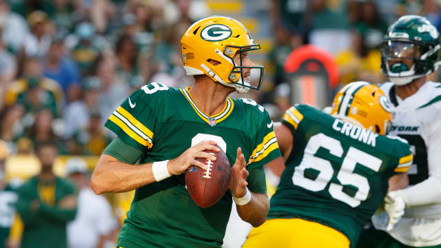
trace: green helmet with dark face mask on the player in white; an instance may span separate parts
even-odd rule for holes
[[[380,46],[381,71],[396,85],[405,85],[438,68],[440,48],[440,34],[425,17],[400,17]]]

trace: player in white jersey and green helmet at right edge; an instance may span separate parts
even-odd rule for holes
[[[398,19],[384,37],[381,68],[391,82],[381,88],[396,113],[390,134],[409,142],[414,160],[409,187],[387,195],[389,216],[372,218],[387,232],[371,227],[358,247],[441,247],[441,84],[427,81],[438,68],[440,46],[438,30],[415,15]],[[398,222],[392,229],[389,217]]]

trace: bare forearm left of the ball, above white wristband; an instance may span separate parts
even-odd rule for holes
[[[137,189],[155,180],[152,163],[130,165],[103,154],[96,164],[90,185],[95,194],[121,193]]]

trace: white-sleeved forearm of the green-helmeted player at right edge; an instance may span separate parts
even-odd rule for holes
[[[441,203],[441,175],[431,175],[426,180],[401,189],[403,200],[407,207],[433,205]]]

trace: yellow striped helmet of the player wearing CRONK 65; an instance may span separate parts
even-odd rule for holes
[[[367,82],[349,83],[336,94],[331,114],[378,134],[391,126],[391,104],[380,87]]]

